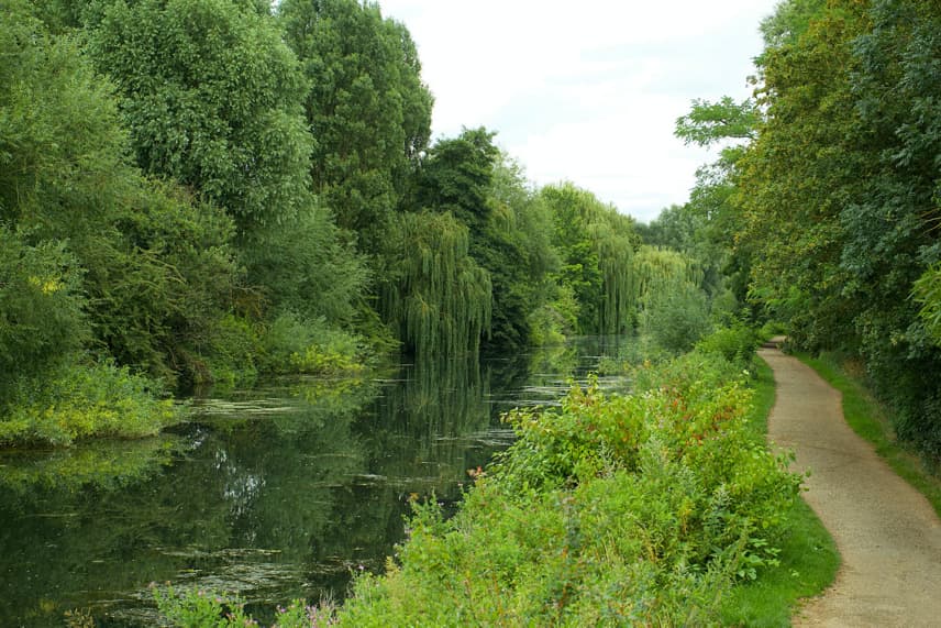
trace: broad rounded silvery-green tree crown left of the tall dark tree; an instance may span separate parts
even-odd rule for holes
[[[144,172],[195,188],[242,233],[297,216],[313,147],[308,85],[274,19],[233,0],[97,7],[89,53],[118,86]]]

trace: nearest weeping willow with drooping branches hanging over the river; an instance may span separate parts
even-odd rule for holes
[[[489,274],[469,256],[467,227],[450,212],[401,213],[389,233],[386,319],[421,359],[477,351],[490,327]]]

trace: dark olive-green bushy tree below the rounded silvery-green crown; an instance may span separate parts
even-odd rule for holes
[[[96,338],[122,364],[196,382],[241,278],[232,220],[173,184],[129,200],[114,240],[82,251]]]

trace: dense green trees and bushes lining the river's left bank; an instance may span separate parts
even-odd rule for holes
[[[0,49],[0,441],[152,433],[162,390],[653,329],[677,299],[682,349],[724,295],[589,191],[534,188],[492,131],[432,142],[376,4],[11,0]]]

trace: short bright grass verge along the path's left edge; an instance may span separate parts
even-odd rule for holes
[[[757,362],[756,372],[749,419],[755,434],[763,438],[775,386],[764,361]],[[802,499],[790,511],[789,527],[778,555],[781,564],[761,572],[756,581],[737,586],[723,602],[722,623],[727,626],[790,626],[800,598],[818,595],[833,582],[840,555],[830,533]]]

